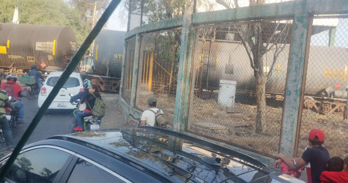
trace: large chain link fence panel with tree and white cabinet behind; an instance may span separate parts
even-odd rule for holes
[[[198,27],[187,130],[277,155],[292,21]]]

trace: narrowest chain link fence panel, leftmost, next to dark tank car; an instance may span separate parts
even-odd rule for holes
[[[133,76],[133,63],[134,63],[134,52],[135,52],[135,37],[126,40],[126,54],[125,54],[125,67],[123,73],[123,84],[122,84],[122,97],[127,102],[130,102],[130,94],[132,90],[132,76]]]

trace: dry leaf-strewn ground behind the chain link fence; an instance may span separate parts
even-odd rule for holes
[[[175,97],[157,96],[158,107],[164,111],[172,121],[174,118]],[[140,110],[147,109],[146,97],[141,97]],[[256,106],[235,103],[235,108],[220,107],[215,99],[193,99],[193,106],[189,112],[190,131],[208,137],[252,148],[262,153],[277,155],[280,137],[280,123],[283,108],[267,107],[267,124],[263,124],[263,133],[255,133]],[[229,113],[227,112],[229,111]],[[232,113],[231,113],[232,112]],[[206,129],[195,126],[195,123],[205,123],[207,128],[214,124],[222,125],[226,129]],[[343,121],[335,115],[320,115],[304,110],[302,115],[299,139],[299,156],[308,145],[308,133],[311,129],[322,129],[326,133],[324,146],[330,155],[346,157],[348,155],[348,121]]]

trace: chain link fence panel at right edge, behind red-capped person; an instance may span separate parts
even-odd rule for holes
[[[331,157],[348,155],[348,18],[315,18],[308,57],[298,156],[311,129],[325,132]]]

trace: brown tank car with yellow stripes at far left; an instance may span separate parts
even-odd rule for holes
[[[0,23],[0,67],[64,69],[77,51],[67,26]]]

